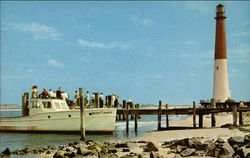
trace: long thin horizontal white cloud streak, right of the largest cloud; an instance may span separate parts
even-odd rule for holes
[[[110,44],[104,44],[102,42],[89,42],[83,39],[78,39],[78,44],[83,47],[94,47],[94,48],[121,48],[128,49],[131,47],[130,44],[121,43],[121,42],[113,42]]]

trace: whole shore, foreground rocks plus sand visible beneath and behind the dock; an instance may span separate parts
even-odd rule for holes
[[[245,118],[246,123],[250,124],[248,115]],[[170,127],[192,127],[192,116],[187,116],[184,119],[177,120],[175,122],[169,122]],[[79,156],[84,154],[89,154],[89,157],[98,157],[100,154],[103,154],[102,148],[105,148],[104,154],[107,154],[111,157],[181,157],[183,155],[182,152],[184,150],[192,151],[192,153],[187,157],[207,157],[206,153],[208,146],[215,146],[218,144],[218,140],[223,143],[221,145],[226,144],[229,139],[236,139],[240,137],[241,139],[249,138],[250,143],[250,132],[240,131],[241,127],[234,127],[233,129],[229,128],[221,128],[221,125],[232,123],[232,115],[229,113],[222,113],[216,115],[216,127],[211,128],[210,115],[204,116],[204,127],[206,128],[196,128],[196,129],[180,129],[180,130],[164,130],[164,131],[151,131],[145,132],[143,136],[127,139],[127,140],[110,140],[110,141],[91,141],[87,140],[84,142],[65,142],[64,144],[69,143],[68,145],[59,145],[58,147],[51,147],[51,145],[47,147],[33,147],[33,148],[24,148],[18,149],[15,151],[5,151],[0,153],[9,153],[12,155],[16,155],[17,157],[32,157],[34,155],[42,156],[42,157],[54,157],[55,155],[63,157],[62,155],[73,154],[71,156]],[[250,125],[246,126],[250,128]],[[140,130],[140,129],[139,129]],[[249,136],[248,136],[249,135]],[[176,146],[175,143],[183,142],[184,140],[188,141],[196,141],[203,144],[205,142],[210,142],[209,145],[205,143],[204,149],[202,151],[198,148],[194,149],[194,147],[188,146],[186,144],[181,146]],[[90,144],[88,142],[91,142]],[[174,142],[174,143],[173,143]],[[198,144],[199,144],[198,143]],[[165,145],[164,145],[165,144]],[[228,143],[227,143],[228,144]],[[81,149],[81,146],[84,149]],[[94,147],[93,147],[94,146]],[[99,147],[101,149],[99,149]],[[241,146],[240,146],[241,147]],[[79,151],[80,150],[80,151]],[[179,151],[180,150],[180,151]],[[220,148],[215,150],[221,150]],[[224,150],[224,149],[223,149]],[[230,154],[234,149],[230,147]],[[238,150],[238,149],[237,149]],[[185,151],[186,152],[186,151]],[[184,152],[184,153],[185,153]],[[199,155],[202,152],[201,155]],[[236,151],[235,151],[236,152]],[[78,155],[79,154],[79,155]],[[213,153],[215,154],[215,153]],[[217,155],[218,156],[218,155]],[[211,156],[210,157],[217,157]],[[55,156],[56,157],[56,156]]]

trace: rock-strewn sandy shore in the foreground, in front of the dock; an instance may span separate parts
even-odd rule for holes
[[[225,132],[227,131],[227,132]],[[182,132],[183,135],[178,135]],[[204,137],[204,134],[207,137]],[[122,158],[201,158],[250,156],[250,133],[238,129],[209,128],[178,131],[148,132],[143,137],[127,141],[75,141],[58,147],[24,148],[10,151],[8,148],[0,156],[14,157],[122,157]],[[239,153],[244,149],[244,152]],[[218,152],[217,152],[218,151]],[[237,155],[236,154],[236,155]]]

